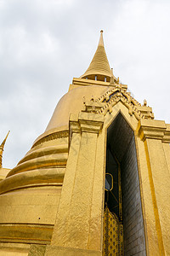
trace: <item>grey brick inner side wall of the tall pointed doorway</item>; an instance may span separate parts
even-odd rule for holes
[[[122,213],[125,255],[146,255],[134,137],[122,160]]]

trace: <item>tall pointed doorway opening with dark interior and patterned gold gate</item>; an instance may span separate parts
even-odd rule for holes
[[[134,132],[122,113],[107,131],[105,173],[103,255],[146,255]]]

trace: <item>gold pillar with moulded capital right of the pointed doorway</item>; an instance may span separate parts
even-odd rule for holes
[[[169,127],[164,121],[140,119],[138,130],[143,141],[138,141],[138,146],[147,252],[167,255],[170,252]]]

